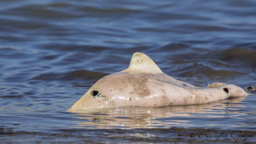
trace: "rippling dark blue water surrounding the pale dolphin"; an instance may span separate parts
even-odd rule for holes
[[[196,86],[255,86],[255,1],[0,5],[1,143],[216,143],[193,136],[213,130],[227,134],[219,143],[234,143],[233,131],[254,136],[237,143],[256,141],[255,93],[196,106],[66,111],[101,77],[127,68],[133,52]]]

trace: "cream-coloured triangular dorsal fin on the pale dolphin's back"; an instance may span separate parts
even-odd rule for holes
[[[163,73],[162,70],[146,54],[135,52],[132,55],[129,67],[126,70],[139,72]]]

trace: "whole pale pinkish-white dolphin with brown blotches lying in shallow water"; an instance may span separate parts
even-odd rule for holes
[[[102,77],[68,111],[204,104],[246,95],[242,88],[233,84],[213,83],[200,88],[179,81],[164,74],[147,55],[136,52],[127,69]]]

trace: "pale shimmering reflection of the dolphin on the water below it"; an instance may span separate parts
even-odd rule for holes
[[[244,97],[237,97],[209,104],[163,108],[124,107],[96,109],[72,113],[72,115],[82,119],[82,121],[77,122],[79,127],[89,127],[91,129],[170,128],[173,126],[214,127],[214,125],[218,128],[221,125],[225,125],[226,129],[228,127],[229,129],[234,129],[234,125],[228,124],[228,120],[230,120],[230,116],[239,118],[244,115],[244,113],[236,109],[244,108],[241,103],[243,99]],[[211,120],[215,123],[209,123]],[[205,124],[202,125],[203,123]]]

